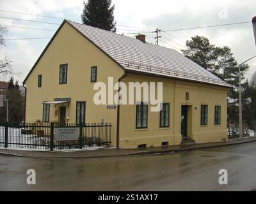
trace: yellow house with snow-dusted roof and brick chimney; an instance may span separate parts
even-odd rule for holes
[[[163,108],[151,112],[143,97],[134,105],[96,105],[93,86],[108,84],[109,77],[127,86],[162,82]],[[146,43],[143,35],[132,39],[64,20],[24,86],[26,122],[111,122],[113,147],[227,140],[229,86],[179,52]]]

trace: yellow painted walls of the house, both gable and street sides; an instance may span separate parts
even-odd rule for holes
[[[67,84],[59,84],[60,64],[68,64]],[[86,122],[111,122],[112,145],[116,146],[117,109],[107,109],[106,105],[93,103],[94,83],[90,82],[92,66],[97,66],[97,81],[107,84],[108,77],[114,83],[124,74],[124,70],[99,48],[69,24],[63,25],[56,38],[38,62],[26,81],[26,122],[42,120],[43,101],[54,98],[71,98],[67,107],[69,122],[76,122],[76,102],[86,101]],[[42,87],[37,87],[38,75],[42,75]],[[167,78],[147,77],[128,74],[122,82],[163,82],[164,103],[170,103],[170,128],[159,128],[159,113],[150,112],[148,106],[148,129],[135,129],[136,106],[120,106],[120,148],[136,148],[140,144],[148,147],[161,146],[162,142],[179,145],[181,142],[181,105],[190,105],[188,135],[197,143],[227,140],[227,89],[192,82],[180,82]],[[189,92],[189,101],[185,95]],[[200,105],[209,107],[208,126],[200,126]],[[214,126],[214,105],[221,105],[221,125]],[[195,110],[195,107],[198,109]],[[50,122],[58,122],[55,106],[50,108]]]

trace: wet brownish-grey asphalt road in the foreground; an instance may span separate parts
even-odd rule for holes
[[[36,185],[26,171],[36,171]],[[220,186],[218,171],[228,171]],[[256,143],[174,154],[95,159],[0,156],[1,191],[252,191]]]

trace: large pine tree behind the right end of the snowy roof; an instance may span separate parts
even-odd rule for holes
[[[238,103],[239,65],[230,48],[211,45],[209,40],[202,36],[195,36],[187,41],[186,47],[186,50],[182,50],[186,57],[232,85],[233,89],[228,93],[231,99],[229,102]],[[242,80],[244,80],[244,74],[249,66],[243,64],[240,68]]]

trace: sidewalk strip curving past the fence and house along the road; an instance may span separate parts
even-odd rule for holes
[[[241,143],[256,142],[256,137],[238,138],[228,140],[228,142],[203,143],[203,144],[184,144],[172,147],[150,147],[147,149],[99,149],[99,150],[77,150],[73,152],[39,152],[26,150],[0,149],[0,155],[19,156],[31,158],[93,158],[93,157],[117,157],[135,156],[143,154],[162,154],[167,152],[180,152],[185,150],[204,149],[209,147],[222,147]]]

